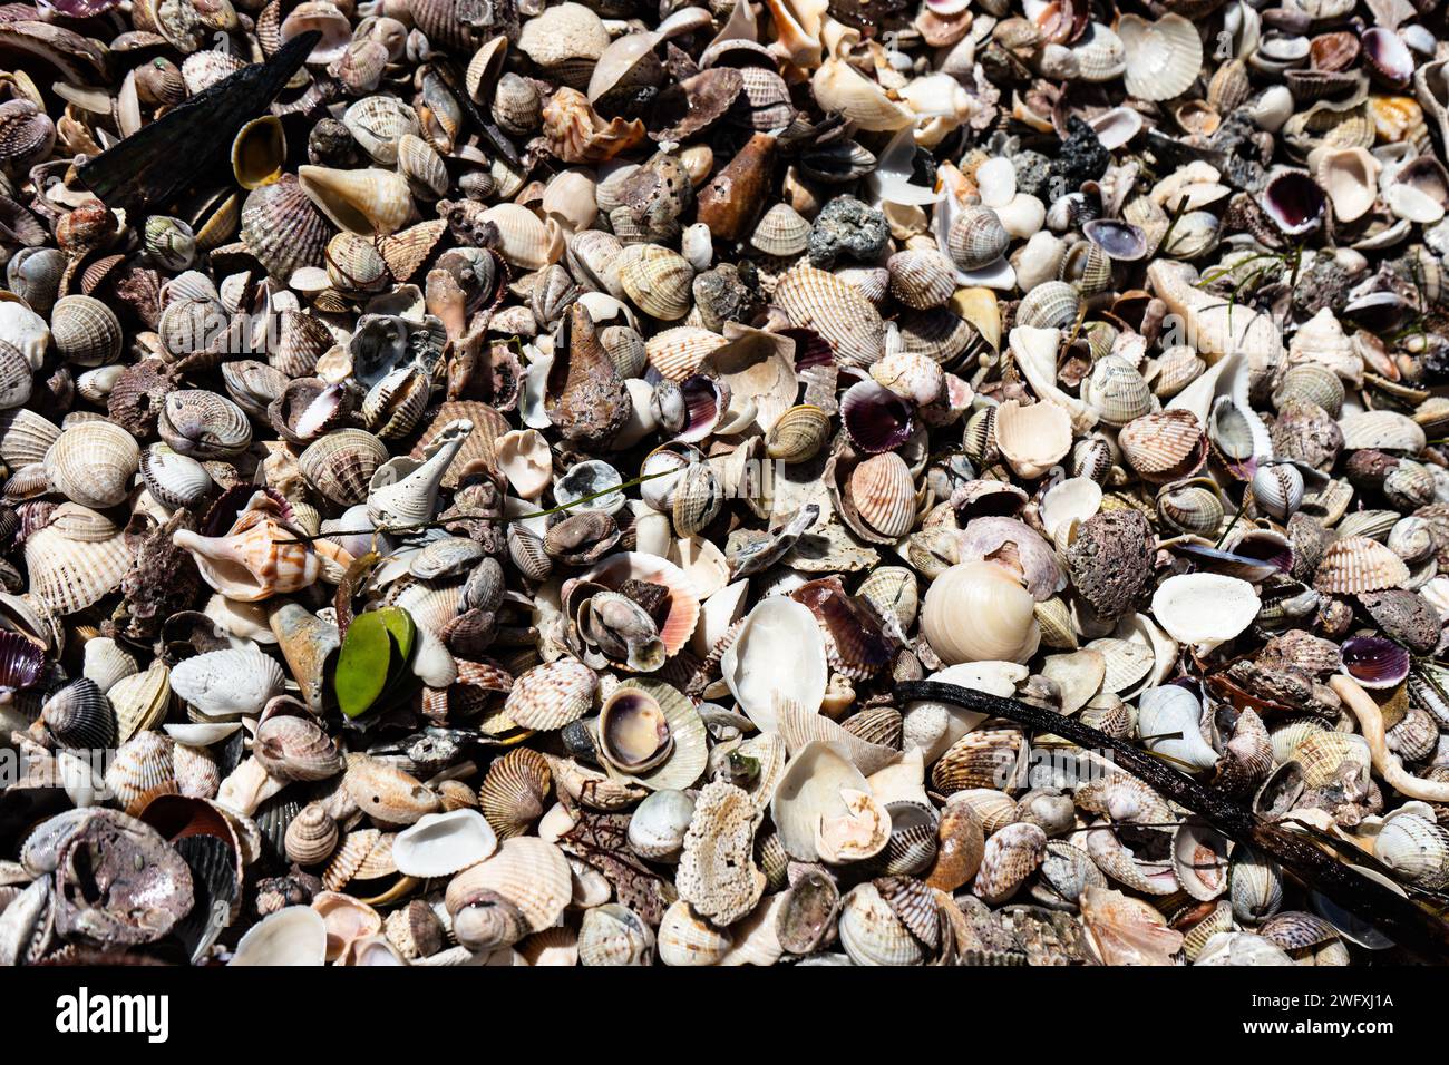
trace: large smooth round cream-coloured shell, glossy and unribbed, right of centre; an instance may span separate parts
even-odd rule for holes
[[[990,562],[948,568],[926,591],[922,635],[943,662],[1024,662],[1040,629],[1032,594]]]

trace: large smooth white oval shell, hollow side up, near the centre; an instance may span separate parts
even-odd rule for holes
[[[814,713],[824,701],[824,635],[810,609],[771,596],[749,611],[735,642],[720,658],[730,694],[761,732],[774,732],[780,698]]]

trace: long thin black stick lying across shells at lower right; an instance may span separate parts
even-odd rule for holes
[[[1314,838],[1271,824],[1240,803],[1198,784],[1130,743],[1113,739],[1074,717],[1064,717],[1020,700],[962,688],[958,684],[933,681],[898,684],[895,697],[901,706],[911,700],[955,703],[966,710],[1051,732],[1081,748],[1111,751],[1116,765],[1178,806],[1191,810],[1235,843],[1268,855],[1284,871],[1355,917],[1369,922],[1398,946],[1436,962],[1449,959],[1449,923],[1382,884],[1358,875],[1320,849]]]

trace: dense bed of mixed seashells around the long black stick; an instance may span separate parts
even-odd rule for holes
[[[0,17],[0,959],[1321,964],[1442,911],[1439,0]]]

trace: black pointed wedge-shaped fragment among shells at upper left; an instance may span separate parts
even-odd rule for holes
[[[236,133],[271,106],[322,38],[307,30],[267,62],[254,62],[197,93],[80,168],[112,210],[155,213],[229,167]]]

